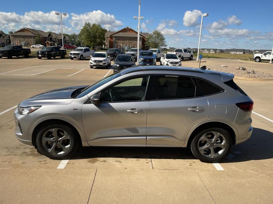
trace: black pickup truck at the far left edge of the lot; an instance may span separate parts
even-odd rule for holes
[[[29,48],[22,48],[20,45],[6,45],[4,48],[0,49],[0,58],[7,57],[8,59],[11,59],[13,56],[28,57],[30,53],[31,51]]]

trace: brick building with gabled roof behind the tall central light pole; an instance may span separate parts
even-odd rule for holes
[[[146,50],[146,39],[149,33],[140,33],[139,44],[140,48]],[[119,48],[128,50],[138,47],[138,32],[130,27],[125,27],[119,31],[107,31],[105,33],[106,48]]]

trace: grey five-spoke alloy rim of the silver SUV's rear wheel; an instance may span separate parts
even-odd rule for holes
[[[216,131],[203,134],[198,141],[199,152],[208,158],[220,156],[225,151],[226,146],[226,138]]]

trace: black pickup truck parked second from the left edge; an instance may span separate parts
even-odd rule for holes
[[[59,47],[44,47],[41,50],[38,50],[36,52],[36,56],[38,59],[41,59],[42,57],[51,59],[52,57],[61,57],[64,58],[66,56],[66,50],[60,50]]]

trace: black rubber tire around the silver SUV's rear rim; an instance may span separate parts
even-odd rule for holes
[[[218,133],[222,134],[222,136],[225,137],[225,140],[226,140],[225,150],[222,153],[220,153],[219,156],[216,156],[214,158],[209,158],[209,157],[206,157],[206,156],[202,155],[200,153],[199,149],[198,149],[199,139],[203,136],[203,134],[211,132],[211,131],[215,131],[215,132],[218,132]],[[232,144],[232,140],[231,140],[231,136],[230,136],[228,131],[226,131],[225,129],[222,129],[222,128],[208,128],[208,129],[202,130],[200,133],[198,133],[193,138],[193,140],[191,141],[191,144],[190,144],[190,148],[191,148],[191,151],[192,151],[193,155],[197,159],[199,159],[200,161],[206,162],[206,163],[214,163],[214,162],[220,161],[221,159],[223,159],[228,154],[228,152],[229,152],[229,150],[231,148],[231,144]]]

